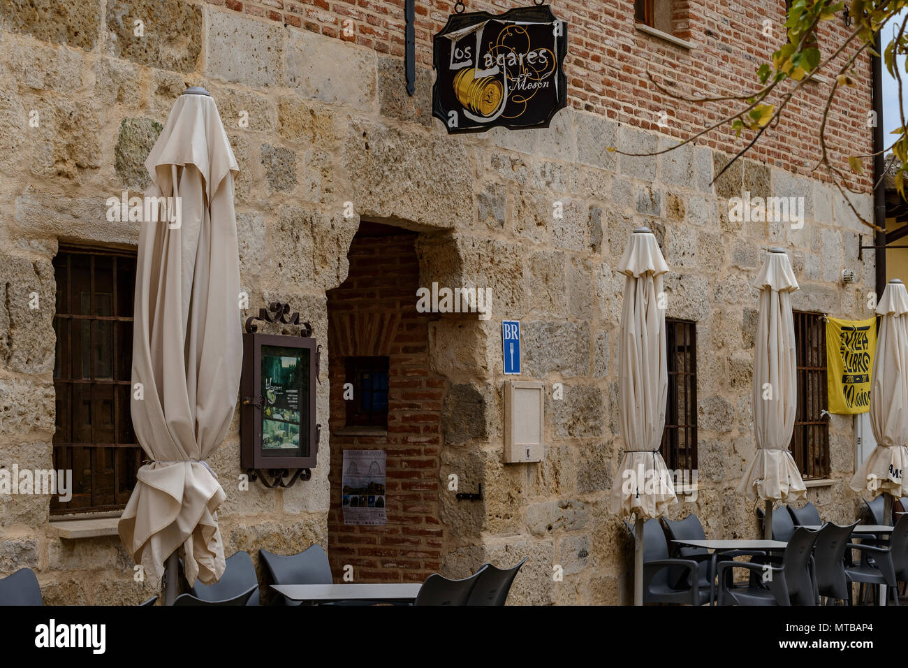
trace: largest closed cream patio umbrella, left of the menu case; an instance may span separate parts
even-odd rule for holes
[[[146,197],[135,280],[133,428],[150,462],[119,523],[146,575],[176,597],[177,552],[190,584],[224,571],[217,509],[226,498],[205,462],[230,427],[242,368],[240,265],[233,184],[238,172],[211,95],[190,88],[173,105],[145,161]]]

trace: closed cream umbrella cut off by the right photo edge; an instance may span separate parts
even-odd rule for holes
[[[870,389],[870,426],[876,438],[873,453],[851,481],[855,492],[886,494],[885,522],[892,521],[893,497],[908,495],[908,291],[897,278],[883,290],[876,305],[880,315]]]

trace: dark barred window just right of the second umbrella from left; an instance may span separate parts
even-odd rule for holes
[[[679,340],[680,338],[680,340]],[[679,354],[687,352],[688,354]],[[683,360],[683,362],[681,362]],[[668,393],[666,428],[660,450],[669,469],[696,469],[696,323],[691,320],[666,318],[666,366]],[[680,368],[679,368],[680,366]],[[678,400],[683,399],[682,411]],[[684,434],[684,446],[681,434]]]

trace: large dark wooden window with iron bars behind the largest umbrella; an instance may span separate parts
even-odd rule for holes
[[[135,254],[61,246],[54,257],[54,468],[73,498],[51,513],[120,510],[142,463],[130,414]]]

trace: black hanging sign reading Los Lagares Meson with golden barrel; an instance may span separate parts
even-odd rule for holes
[[[548,5],[451,15],[434,51],[432,115],[449,133],[548,127],[568,104],[567,24]]]

